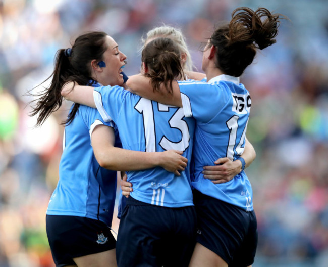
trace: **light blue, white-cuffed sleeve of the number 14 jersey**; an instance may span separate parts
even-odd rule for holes
[[[178,84],[185,116],[199,122],[209,122],[227,101],[218,84],[194,80],[178,81]]]

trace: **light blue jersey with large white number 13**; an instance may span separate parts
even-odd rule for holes
[[[119,86],[95,88],[94,100],[104,121],[116,123],[123,148],[146,152],[181,150],[190,162],[195,122],[184,117],[182,108],[141,98]],[[127,180],[133,184],[131,196],[158,206],[192,206],[189,162],[181,176],[160,167],[128,171]]]

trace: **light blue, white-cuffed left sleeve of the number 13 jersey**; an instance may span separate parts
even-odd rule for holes
[[[117,121],[121,104],[127,93],[120,86],[100,86],[94,88],[94,102],[105,122]]]

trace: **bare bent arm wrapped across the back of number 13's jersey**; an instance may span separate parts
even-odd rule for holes
[[[114,147],[115,135],[112,127],[98,125],[91,135],[91,144],[99,165],[106,169],[129,171],[160,166],[180,176],[188,160],[182,152],[141,152]]]

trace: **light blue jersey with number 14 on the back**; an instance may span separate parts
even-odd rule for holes
[[[244,151],[251,99],[239,78],[220,75],[208,83],[179,81],[186,117],[196,119],[192,186],[205,195],[253,210],[252,188],[244,171],[231,181],[213,184],[204,179],[203,166],[218,158],[237,159]]]

